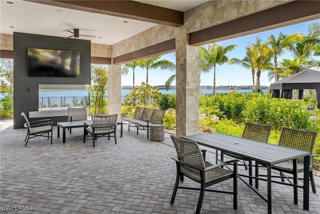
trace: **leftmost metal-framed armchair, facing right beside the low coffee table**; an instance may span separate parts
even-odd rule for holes
[[[53,122],[49,122],[50,119],[40,119],[40,120],[34,120],[29,121],[26,117],[25,113],[22,112],[21,116],[25,119],[24,127],[27,128],[27,133],[24,138],[25,145],[28,143],[28,140],[30,138],[36,137],[36,136],[44,136],[44,134],[47,134],[47,138],[51,137],[51,144],[52,144],[52,124]],[[51,132],[51,135],[49,133]]]

